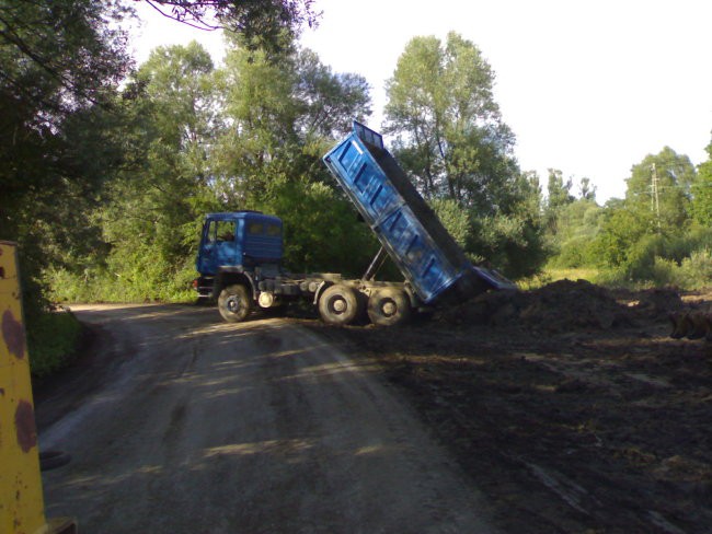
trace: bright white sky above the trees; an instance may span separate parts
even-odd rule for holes
[[[139,5],[136,59],[154,46],[203,43],[216,61],[219,33],[194,31]],[[315,0],[319,26],[303,46],[335,72],[364,76],[379,130],[406,43],[455,31],[495,72],[494,97],[517,138],[522,171],[548,169],[574,184],[588,177],[597,199],[623,197],[631,167],[670,147],[693,164],[712,141],[710,0]],[[386,139],[388,142],[388,139]],[[577,193],[574,187],[573,193]]]

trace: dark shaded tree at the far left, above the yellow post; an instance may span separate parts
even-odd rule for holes
[[[85,243],[82,208],[117,159],[106,127],[130,66],[126,14],[114,0],[0,0],[0,239],[20,243],[31,312],[41,266]]]

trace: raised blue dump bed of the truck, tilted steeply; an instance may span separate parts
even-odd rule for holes
[[[376,131],[355,121],[324,163],[425,304],[515,287],[472,265]]]

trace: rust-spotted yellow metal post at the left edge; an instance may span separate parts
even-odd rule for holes
[[[15,245],[0,241],[0,532],[46,534],[73,523],[45,520],[20,294]]]

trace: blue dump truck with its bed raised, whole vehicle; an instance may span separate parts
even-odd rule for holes
[[[323,321],[345,325],[366,315],[395,325],[413,311],[462,302],[489,289],[514,289],[496,271],[467,258],[423,197],[383,147],[382,137],[354,123],[354,131],[329,151],[324,163],[378,237],[381,249],[365,275],[296,275],[282,268],[282,220],[256,211],[206,217],[193,285],[217,298],[228,322],[253,310],[279,307],[296,299],[318,306]],[[388,254],[404,281],[378,281]]]

